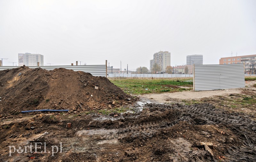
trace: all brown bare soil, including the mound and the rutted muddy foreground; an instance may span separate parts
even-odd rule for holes
[[[251,111],[231,111],[223,106],[228,104],[220,105],[220,95],[197,99],[169,97],[163,104],[152,96],[141,96],[136,101],[108,79],[83,72],[21,67],[0,73],[0,161],[256,160],[256,123]],[[221,96],[228,100],[236,95],[256,97],[255,89],[246,88],[239,94]],[[33,103],[35,98],[37,105]],[[113,105],[113,101],[118,105]],[[115,106],[125,112],[114,112]],[[249,106],[255,111],[255,105],[242,106],[239,109]],[[74,109],[77,113],[19,113],[46,108]],[[98,110],[113,112],[102,114]],[[66,128],[67,123],[71,123],[71,128]],[[42,143],[37,148],[42,153],[35,153],[35,143]],[[52,146],[60,148],[60,143],[62,152],[52,156]],[[9,146],[29,145],[34,152],[16,151],[9,156]]]

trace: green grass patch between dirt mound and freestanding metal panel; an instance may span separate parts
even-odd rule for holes
[[[188,79],[111,79],[117,87],[121,88],[126,93],[131,94],[149,94],[162,92],[179,92],[191,90],[193,82],[188,82]]]

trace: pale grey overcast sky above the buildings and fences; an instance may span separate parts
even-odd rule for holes
[[[231,51],[256,54],[256,1],[0,0],[4,66],[18,62],[18,53],[38,53],[44,64],[108,60],[114,68],[122,61],[122,69],[149,69],[160,50],[171,53],[171,66],[192,54],[204,64],[219,64]]]

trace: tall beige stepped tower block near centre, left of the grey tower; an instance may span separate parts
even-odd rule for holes
[[[153,59],[150,60],[150,71],[152,72],[154,64],[157,64],[161,72],[165,72],[167,66],[171,66],[171,53],[160,51],[154,53]]]

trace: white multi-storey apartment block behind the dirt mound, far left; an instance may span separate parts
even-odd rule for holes
[[[37,62],[39,62],[39,66],[44,66],[44,55],[41,54],[31,54],[31,53],[19,53],[19,66],[37,66]]]

